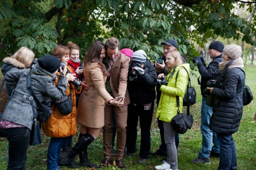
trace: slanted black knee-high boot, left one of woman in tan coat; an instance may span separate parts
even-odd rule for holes
[[[86,134],[85,136],[83,136],[80,140],[78,140],[78,142],[71,149],[71,151],[68,153],[68,155],[66,157],[64,157],[63,161],[68,163],[69,166],[71,166],[71,168],[79,168],[80,165],[78,165],[75,162],[75,156],[77,156],[77,154],[80,153],[80,151],[83,149],[83,147],[91,144],[92,139],[94,140],[94,138],[89,134]]]

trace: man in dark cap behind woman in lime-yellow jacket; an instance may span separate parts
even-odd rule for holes
[[[157,74],[164,73],[165,76],[166,76],[169,72],[168,69],[165,67],[166,55],[170,50],[177,49],[178,48],[178,43],[177,43],[177,41],[169,38],[165,42],[162,42],[161,45],[163,45],[163,47],[164,47],[164,49],[163,49],[164,55],[162,55],[161,57],[156,59],[154,65],[155,65],[155,70],[156,70]],[[182,61],[186,62],[184,56],[181,55],[181,57],[182,57]],[[162,81],[162,80],[158,79],[158,81]],[[160,87],[161,87],[161,85],[156,86],[156,104],[157,105],[158,105],[160,97],[161,97],[161,91],[159,90]],[[159,119],[158,119],[158,127],[159,127],[159,130],[160,130],[161,145],[155,153],[150,153],[150,154],[160,155],[160,156],[167,156],[167,148],[166,148],[166,144],[165,144],[165,141],[164,141],[164,126],[163,126],[163,122]],[[176,145],[176,148],[178,149],[178,145],[179,145],[179,134],[178,133],[175,133],[175,145]],[[163,159],[163,160],[165,160],[165,159]]]

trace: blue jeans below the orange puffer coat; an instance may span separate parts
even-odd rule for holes
[[[65,138],[51,138],[47,152],[47,170],[58,169],[63,139]]]

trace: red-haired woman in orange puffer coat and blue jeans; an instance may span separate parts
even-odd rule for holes
[[[68,136],[73,136],[77,133],[77,108],[76,108],[76,95],[82,91],[82,87],[77,89],[73,85],[73,81],[76,79],[75,74],[72,73],[72,69],[67,66],[69,61],[70,50],[65,46],[57,46],[51,53],[51,55],[60,58],[60,62],[65,63],[68,88],[65,94],[71,95],[73,109],[71,114],[63,115],[58,106],[54,103],[51,107],[51,117],[46,123],[42,124],[43,133],[46,136],[51,137],[50,144],[48,146],[47,153],[47,170],[59,169],[59,166],[65,166],[66,163],[62,162],[60,158],[62,142]],[[59,72],[57,74],[60,74]],[[57,83],[57,79],[55,81]]]

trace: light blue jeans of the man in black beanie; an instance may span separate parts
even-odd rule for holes
[[[206,97],[203,97],[200,126],[200,131],[202,133],[202,150],[199,151],[199,157],[209,157],[211,150],[214,153],[220,153],[220,146],[217,135],[209,128],[211,115],[213,115],[213,109],[206,105]]]

